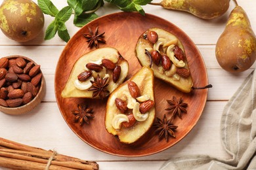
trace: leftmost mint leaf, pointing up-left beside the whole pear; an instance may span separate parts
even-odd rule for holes
[[[56,16],[56,14],[58,13],[58,9],[53,5],[50,0],[38,0],[37,3],[40,9],[45,14]]]

